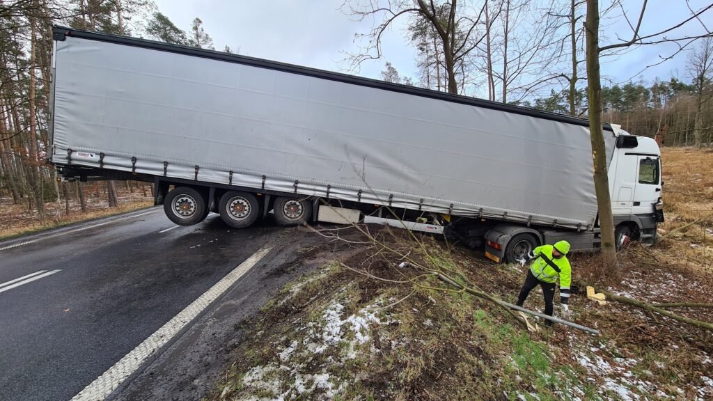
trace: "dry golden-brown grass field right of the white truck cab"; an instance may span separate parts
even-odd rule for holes
[[[713,270],[713,151],[663,148],[660,262]]]

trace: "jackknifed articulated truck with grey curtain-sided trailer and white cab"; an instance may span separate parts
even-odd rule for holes
[[[588,121],[342,73],[53,29],[48,158],[154,183],[178,225],[381,223],[496,262],[600,247]],[[617,238],[655,240],[660,149],[605,124]]]

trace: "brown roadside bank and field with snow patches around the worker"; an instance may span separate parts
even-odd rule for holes
[[[712,155],[665,149],[660,242],[623,250],[620,282],[600,277],[597,255],[573,255],[575,284],[650,303],[711,303]],[[513,302],[524,268],[429,236],[362,229],[318,228],[314,235],[324,241],[299,253],[304,263],[328,261],[242,323],[245,340],[230,352],[208,400],[713,397],[711,330],[577,293],[571,320],[600,335],[563,325],[530,333],[503,308],[427,273]],[[402,261],[410,264],[399,267]],[[525,306],[543,310],[541,292]],[[712,308],[669,310],[713,322]]]

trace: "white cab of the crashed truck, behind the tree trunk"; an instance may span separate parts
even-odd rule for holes
[[[617,141],[608,175],[617,241],[627,235],[652,243],[663,221],[660,148],[652,138],[612,127]]]

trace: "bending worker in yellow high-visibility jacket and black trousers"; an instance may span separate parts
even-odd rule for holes
[[[555,298],[555,283],[560,280],[560,302],[563,314],[569,315],[570,283],[572,282],[572,267],[567,260],[570,243],[565,240],[558,241],[555,245],[542,245],[533,249],[518,260],[520,265],[525,265],[529,260],[534,260],[528,270],[523,289],[518,296],[518,306],[522,306],[528,298],[530,291],[539,284],[545,295],[545,315],[553,315],[553,300]],[[551,326],[551,320],[545,320],[545,325]]]

